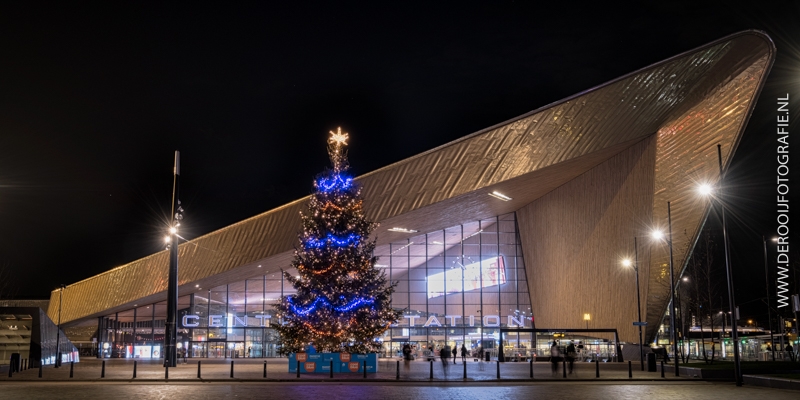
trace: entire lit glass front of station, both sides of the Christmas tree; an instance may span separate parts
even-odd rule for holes
[[[434,352],[448,343],[496,356],[500,328],[531,328],[531,305],[514,214],[467,222],[376,247],[376,268],[397,284],[403,318],[386,331],[382,356],[404,343]],[[292,272],[291,270],[289,271]],[[278,357],[272,304],[294,292],[280,272],[198,288],[178,301],[179,355]],[[103,357],[161,357],[166,302],[99,318]],[[505,334],[504,353],[530,354],[531,334]],[[535,346],[534,346],[535,347]]]

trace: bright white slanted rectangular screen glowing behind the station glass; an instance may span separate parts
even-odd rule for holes
[[[506,283],[503,257],[492,257],[428,276],[428,298],[460,293],[462,290],[468,292],[503,283]]]

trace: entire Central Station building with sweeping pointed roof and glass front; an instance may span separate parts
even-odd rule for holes
[[[638,343],[621,265],[634,254],[645,341],[663,338],[669,253],[647,237],[670,202],[677,279],[712,204],[694,189],[720,182],[717,146],[727,167],[774,58],[765,34],[737,33],[358,177],[380,222],[376,268],[404,310],[384,355],[445,341],[491,353],[501,335],[507,356],[530,355],[580,328]],[[272,304],[293,292],[281,270],[306,201],[179,246],[181,352],[280,355]],[[100,356],[161,357],[168,264],[162,251],[56,290],[48,315],[91,332]],[[565,338],[614,351],[607,333]]]

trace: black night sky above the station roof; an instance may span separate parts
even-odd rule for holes
[[[162,250],[175,150],[191,239],[309,194],[338,126],[360,175],[746,29],[778,49],[727,182],[737,300],[764,296],[800,3],[76,3],[0,5],[0,296]]]

